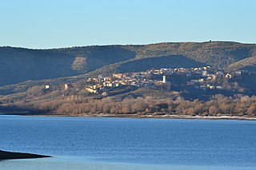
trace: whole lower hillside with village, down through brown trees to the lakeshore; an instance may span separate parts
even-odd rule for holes
[[[0,108],[74,116],[254,117],[255,75],[211,66],[114,73],[34,86],[26,96],[3,97]]]

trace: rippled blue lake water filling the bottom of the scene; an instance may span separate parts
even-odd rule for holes
[[[0,169],[256,169],[256,121],[0,116]]]

